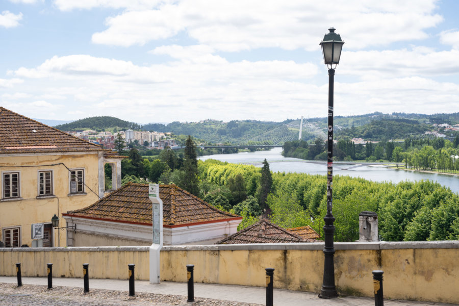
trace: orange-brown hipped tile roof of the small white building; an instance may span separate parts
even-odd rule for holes
[[[160,185],[160,198],[163,200],[164,226],[240,218],[216,209],[175,185]],[[64,215],[151,224],[148,184],[127,183],[93,205]]]

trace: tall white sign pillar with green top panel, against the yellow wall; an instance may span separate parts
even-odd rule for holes
[[[163,246],[163,201],[159,184],[148,185],[148,198],[152,204],[153,244],[150,246],[150,284],[160,282],[160,251]]]

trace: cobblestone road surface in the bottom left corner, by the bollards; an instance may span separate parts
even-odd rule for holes
[[[232,301],[222,301],[209,298],[195,298],[194,302],[187,302],[182,295],[154,294],[138,292],[130,297],[128,291],[91,289],[82,293],[82,288],[40,285],[22,285],[0,283],[0,305],[2,306],[134,306],[134,305],[209,305],[209,306],[260,306]]]

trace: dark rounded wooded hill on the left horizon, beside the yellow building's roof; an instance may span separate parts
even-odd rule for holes
[[[98,116],[84,118],[77,121],[73,121],[66,124],[60,124],[55,126],[56,129],[61,131],[77,131],[77,130],[106,130],[113,127],[117,127],[119,130],[138,130],[140,124],[135,122],[124,121],[116,117],[110,116]]]

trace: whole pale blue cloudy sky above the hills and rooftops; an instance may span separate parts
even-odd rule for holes
[[[459,1],[0,0],[0,106],[137,123],[459,111]]]

